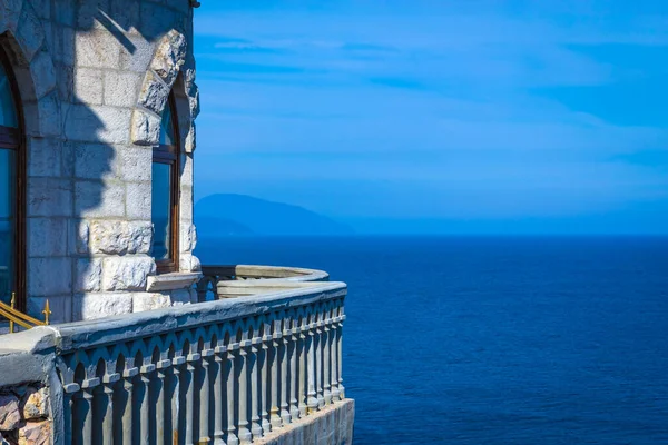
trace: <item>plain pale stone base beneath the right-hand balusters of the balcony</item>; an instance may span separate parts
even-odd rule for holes
[[[346,398],[324,407],[292,424],[275,428],[258,441],[258,445],[351,445],[355,400]]]

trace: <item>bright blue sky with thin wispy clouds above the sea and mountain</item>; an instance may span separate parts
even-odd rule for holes
[[[668,233],[668,2],[202,3],[199,198],[362,231]]]

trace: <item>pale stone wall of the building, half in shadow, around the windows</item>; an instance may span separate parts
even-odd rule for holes
[[[41,318],[46,299],[52,323],[189,303],[199,270],[190,1],[0,0],[0,44],[24,120],[29,314]],[[183,147],[183,279],[149,290],[151,147],[171,90]]]

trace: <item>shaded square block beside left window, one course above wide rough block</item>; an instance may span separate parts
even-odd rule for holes
[[[67,220],[65,218],[28,218],[28,256],[57,257],[67,255]]]

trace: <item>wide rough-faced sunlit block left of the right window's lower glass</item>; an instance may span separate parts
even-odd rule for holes
[[[148,254],[151,237],[149,221],[95,221],[90,226],[90,251],[106,255]]]

